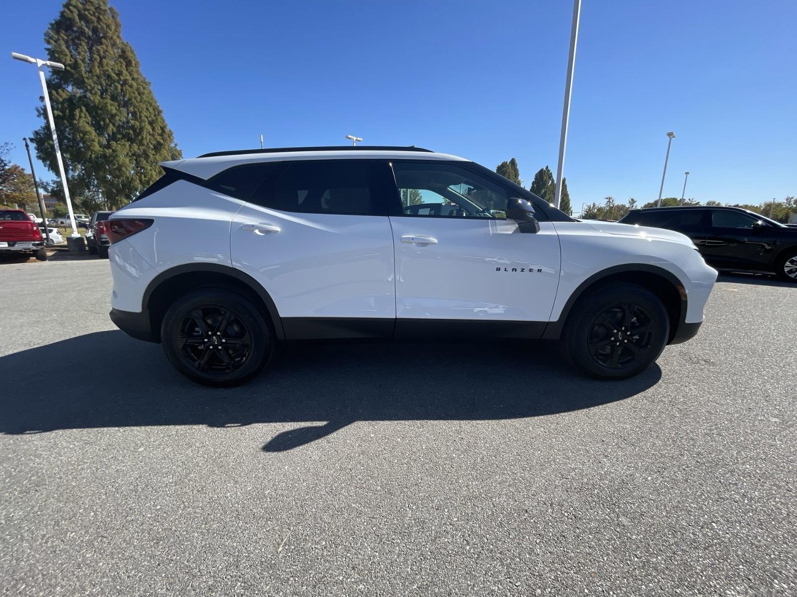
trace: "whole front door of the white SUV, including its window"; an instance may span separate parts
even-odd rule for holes
[[[507,188],[465,165],[392,166],[401,201],[401,213],[391,215],[397,334],[447,322],[443,333],[539,337],[559,281],[551,222],[540,221],[536,234],[520,232],[505,217]]]

